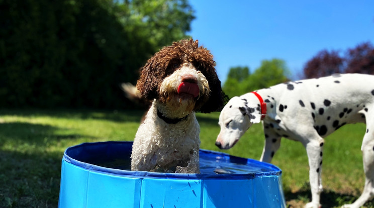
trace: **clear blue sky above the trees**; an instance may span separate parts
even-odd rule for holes
[[[190,0],[196,19],[188,35],[208,48],[226,80],[230,67],[253,72],[264,59],[286,61],[291,79],[319,51],[374,44],[374,1]]]

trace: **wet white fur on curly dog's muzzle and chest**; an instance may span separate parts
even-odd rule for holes
[[[205,76],[191,64],[184,64],[160,86],[160,96],[167,96],[166,103],[153,100],[144,122],[136,133],[131,155],[131,169],[141,171],[168,171],[178,166],[180,161],[188,161],[188,166],[176,167],[177,172],[199,173],[200,126],[193,112],[195,99],[183,99],[177,94],[177,87],[185,76],[198,80],[199,96],[209,93]],[[168,118],[186,120],[177,124],[167,124],[157,116],[157,109]]]

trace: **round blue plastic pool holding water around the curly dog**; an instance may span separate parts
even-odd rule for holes
[[[58,206],[286,207],[274,165],[200,150],[201,174],[130,170],[132,142],[83,143],[62,159]]]

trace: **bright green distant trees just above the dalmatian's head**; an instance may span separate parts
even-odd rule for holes
[[[252,74],[248,67],[230,68],[223,90],[231,98],[247,92],[286,82],[290,72],[281,59],[263,60]]]

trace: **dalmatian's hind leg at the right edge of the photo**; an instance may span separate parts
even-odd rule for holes
[[[374,109],[368,108],[364,114],[366,118],[366,133],[363,137],[361,151],[363,170],[365,171],[365,185],[361,196],[356,201],[352,204],[345,204],[342,207],[360,207],[374,196]]]

